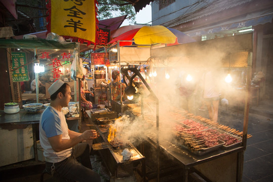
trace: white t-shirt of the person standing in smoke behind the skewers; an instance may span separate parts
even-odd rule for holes
[[[219,88],[215,76],[216,75],[213,75],[211,71],[208,71],[203,75],[204,98],[219,97]]]

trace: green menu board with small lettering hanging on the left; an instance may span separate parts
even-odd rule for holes
[[[28,77],[26,53],[12,52],[11,54],[12,54],[12,70],[20,67],[12,72],[13,82],[28,81],[29,77]],[[22,66],[22,65],[25,65],[25,66]]]

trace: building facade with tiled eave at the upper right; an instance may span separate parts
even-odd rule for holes
[[[152,25],[180,30],[197,41],[253,33],[252,74],[265,75],[264,97],[273,99],[273,1],[158,0],[152,3]]]

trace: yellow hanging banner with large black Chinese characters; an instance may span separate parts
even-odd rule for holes
[[[49,1],[48,31],[95,44],[98,23],[96,3],[97,0]]]

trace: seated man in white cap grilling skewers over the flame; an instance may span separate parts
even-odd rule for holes
[[[61,111],[71,99],[69,84],[58,79],[48,89],[51,103],[39,122],[39,139],[45,158],[45,169],[52,175],[75,181],[101,181],[92,170],[89,145],[81,143],[98,138],[96,130],[78,133],[68,129]],[[79,159],[80,162],[77,161]]]

